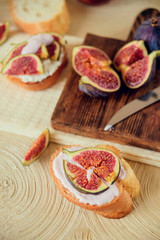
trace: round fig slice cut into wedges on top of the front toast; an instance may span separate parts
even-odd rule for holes
[[[99,194],[113,184],[120,172],[120,159],[111,150],[93,147],[71,152],[63,149],[67,159],[63,168],[69,182],[80,192]]]

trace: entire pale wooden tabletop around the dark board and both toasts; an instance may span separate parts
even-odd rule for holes
[[[71,25],[67,52],[83,41],[87,32],[125,40],[137,14],[146,8],[160,9],[159,0],[112,0],[89,6],[67,0]],[[28,38],[10,17],[6,0],[0,2],[0,21],[11,21],[8,42]],[[118,147],[141,182],[141,196],[133,212],[120,220],[109,220],[80,209],[64,199],[49,172],[52,152],[60,144],[95,145],[101,141],[55,132],[50,117],[71,70],[71,63],[52,88],[32,93],[19,89],[0,76],[0,239],[160,239],[160,171],[143,163],[159,164],[159,154],[129,146]],[[42,157],[29,167],[21,160],[33,140],[48,127],[51,143]],[[137,161],[139,163],[135,163]]]

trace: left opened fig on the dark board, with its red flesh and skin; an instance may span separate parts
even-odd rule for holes
[[[106,97],[120,88],[118,74],[110,67],[107,54],[91,46],[79,46],[73,49],[72,65],[82,76],[79,81],[80,91],[94,97]]]

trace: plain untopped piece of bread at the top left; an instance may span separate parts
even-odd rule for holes
[[[65,0],[10,0],[10,12],[15,23],[29,34],[65,34],[69,29],[70,16]]]

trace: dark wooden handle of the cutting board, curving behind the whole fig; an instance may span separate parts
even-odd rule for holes
[[[134,34],[136,29],[141,25],[144,21],[152,17],[160,16],[160,11],[155,8],[148,8],[142,11],[140,14],[137,15],[136,20],[131,28],[131,32],[127,38],[127,41],[130,42],[134,39]]]

